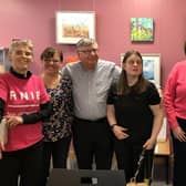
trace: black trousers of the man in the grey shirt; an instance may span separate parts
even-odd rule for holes
[[[72,127],[74,151],[80,169],[110,169],[113,155],[113,134],[107,120],[75,118]]]

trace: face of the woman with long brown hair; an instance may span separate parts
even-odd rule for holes
[[[123,63],[123,69],[127,76],[140,76],[143,71],[142,60],[138,55],[132,54],[127,58],[126,62]]]

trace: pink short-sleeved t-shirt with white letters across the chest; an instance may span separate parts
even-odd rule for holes
[[[39,76],[19,79],[11,73],[0,75],[0,97],[6,102],[4,115],[22,115],[40,111],[40,104],[46,103],[50,97]],[[10,128],[6,151],[17,151],[29,147],[41,141],[41,122],[21,124]]]

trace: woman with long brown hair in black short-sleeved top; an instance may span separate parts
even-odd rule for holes
[[[143,76],[143,60],[137,51],[127,51],[120,80],[111,86],[107,99],[107,120],[115,135],[114,149],[118,169],[126,180],[134,176],[143,148],[152,164],[153,148],[162,126],[161,97],[153,83]],[[137,176],[143,182],[142,169]]]

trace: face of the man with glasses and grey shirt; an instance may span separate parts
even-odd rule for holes
[[[78,50],[78,55],[86,70],[93,70],[99,60],[99,46],[96,43],[87,46],[81,46]]]

